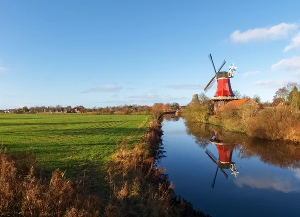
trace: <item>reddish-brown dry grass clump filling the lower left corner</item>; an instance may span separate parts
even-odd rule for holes
[[[58,169],[44,180],[33,161],[30,154],[20,158],[0,149],[0,216],[99,215],[100,200],[83,192],[83,182],[73,183]]]

